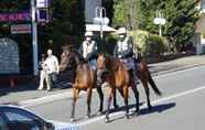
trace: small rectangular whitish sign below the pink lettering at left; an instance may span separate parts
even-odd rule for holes
[[[31,33],[31,24],[14,24],[11,25],[11,34]]]

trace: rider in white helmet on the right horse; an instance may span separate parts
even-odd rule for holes
[[[119,40],[117,41],[117,44],[114,50],[114,56],[119,57],[122,59],[122,62],[126,63],[128,69],[131,72],[134,84],[137,84],[138,76],[137,76],[137,48],[133,45],[131,36],[127,34],[126,28],[120,28],[117,31],[119,35]]]

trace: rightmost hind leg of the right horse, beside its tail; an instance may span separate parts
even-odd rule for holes
[[[141,83],[142,83],[142,86],[143,86],[143,88],[145,90],[148,108],[149,108],[149,110],[151,110],[152,109],[152,106],[150,104],[150,89],[149,89],[149,86],[148,86],[148,79],[147,78],[144,78],[144,79],[141,78]]]

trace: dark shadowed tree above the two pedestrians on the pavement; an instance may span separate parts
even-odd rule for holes
[[[62,44],[77,44],[85,32],[85,14],[82,0],[53,0],[50,13],[52,21],[39,26],[43,43],[53,40],[48,45],[61,50]]]

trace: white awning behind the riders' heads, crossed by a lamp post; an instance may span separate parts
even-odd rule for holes
[[[100,25],[99,24],[86,24],[86,31],[99,32]],[[104,32],[116,32],[114,28],[108,26],[108,25],[102,25],[102,31]]]

